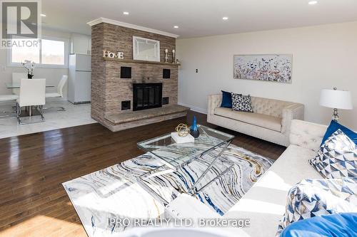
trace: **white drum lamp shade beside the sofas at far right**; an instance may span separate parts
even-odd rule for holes
[[[320,105],[341,110],[352,110],[351,92],[346,90],[321,90]]]

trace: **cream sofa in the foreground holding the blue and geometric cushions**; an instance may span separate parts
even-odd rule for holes
[[[322,178],[308,164],[308,159],[316,156],[326,128],[324,125],[292,120],[291,144],[286,151],[223,216],[223,218],[249,218],[251,226],[248,228],[223,228],[222,232],[233,231],[239,237],[275,236],[278,223],[285,212],[286,196],[289,189],[302,179]],[[205,206],[191,196],[178,196],[169,204],[166,213],[173,212],[180,217],[191,218],[197,218],[197,216],[216,218],[218,216],[202,205]]]

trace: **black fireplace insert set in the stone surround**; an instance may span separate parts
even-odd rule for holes
[[[134,83],[133,110],[162,107],[162,83]]]

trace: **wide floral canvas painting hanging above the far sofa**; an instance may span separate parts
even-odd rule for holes
[[[293,55],[235,55],[233,78],[291,83]]]

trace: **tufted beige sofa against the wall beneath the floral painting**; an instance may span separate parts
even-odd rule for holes
[[[287,147],[291,120],[304,119],[304,106],[295,102],[251,97],[253,112],[221,107],[222,95],[208,96],[207,122]]]

